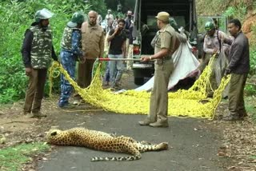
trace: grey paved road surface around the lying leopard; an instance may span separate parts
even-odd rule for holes
[[[140,126],[138,121],[145,116],[116,113],[58,113],[52,116],[55,125],[61,129],[86,127],[107,133],[134,137],[138,141],[167,141],[172,147],[166,151],[142,153],[139,161],[98,161],[90,157],[127,156],[120,153],[106,153],[82,147],[54,148],[49,161],[39,163],[40,171],[170,171],[170,170],[212,170],[220,171],[223,161],[216,154],[221,134],[209,121],[170,117],[169,128]],[[62,117],[62,120],[58,120]]]

